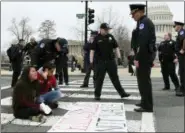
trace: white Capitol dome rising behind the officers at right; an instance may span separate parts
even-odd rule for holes
[[[163,41],[166,32],[172,33],[172,38],[175,39],[173,14],[166,3],[152,2],[149,4],[148,17],[155,25],[157,43]]]

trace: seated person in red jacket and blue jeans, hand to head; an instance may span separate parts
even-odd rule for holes
[[[57,101],[62,97],[62,93],[57,89],[56,78],[53,75],[55,67],[51,63],[47,63],[37,73],[38,81],[41,85],[40,96],[37,99],[38,103],[45,103],[52,109],[57,108]]]

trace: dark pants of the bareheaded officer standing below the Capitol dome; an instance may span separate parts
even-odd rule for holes
[[[175,63],[173,62],[162,62],[161,63],[162,75],[166,89],[170,89],[169,76],[175,86],[179,87],[179,80],[175,72]]]

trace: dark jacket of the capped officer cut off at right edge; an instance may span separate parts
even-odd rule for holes
[[[183,49],[183,40],[185,39],[185,30],[184,29],[181,29],[179,32],[178,32],[178,35],[177,35],[177,39],[176,39],[176,51],[177,51],[177,54],[179,55],[179,51],[181,49]],[[184,49],[185,50],[185,49]]]

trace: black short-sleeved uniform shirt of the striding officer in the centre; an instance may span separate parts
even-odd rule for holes
[[[91,50],[96,52],[98,60],[112,60],[114,59],[113,50],[118,47],[118,44],[111,34],[105,36],[98,34],[90,46]]]

